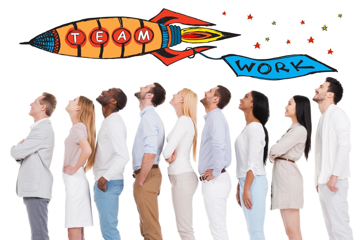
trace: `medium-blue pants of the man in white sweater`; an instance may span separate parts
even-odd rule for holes
[[[120,240],[117,230],[119,212],[119,196],[124,188],[124,180],[110,180],[105,183],[106,191],[94,184],[94,201],[99,212],[100,230],[105,240]]]

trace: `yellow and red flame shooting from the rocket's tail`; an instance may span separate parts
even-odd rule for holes
[[[240,36],[240,34],[201,27],[189,27],[181,30],[181,41],[191,43],[212,42],[236,36]]]

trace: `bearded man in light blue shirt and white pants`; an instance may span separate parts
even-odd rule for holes
[[[199,151],[200,180],[205,210],[213,239],[229,239],[226,230],[226,201],[231,180],[225,170],[231,163],[229,125],[221,109],[228,105],[230,91],[221,85],[205,92],[200,102],[205,107],[205,125]]]

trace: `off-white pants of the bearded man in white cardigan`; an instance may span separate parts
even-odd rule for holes
[[[353,240],[349,225],[349,205],[346,200],[349,188],[348,179],[337,180],[335,188],[338,189],[337,192],[330,191],[326,184],[319,184],[318,188],[329,240]]]

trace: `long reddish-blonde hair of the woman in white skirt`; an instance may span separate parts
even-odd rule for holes
[[[95,155],[95,107],[93,101],[90,99],[80,96],[79,106],[81,106],[79,111],[79,121],[84,123],[87,130],[87,141],[91,147],[91,155],[87,159],[86,166],[84,167],[85,172],[89,171],[94,165],[94,155]]]

